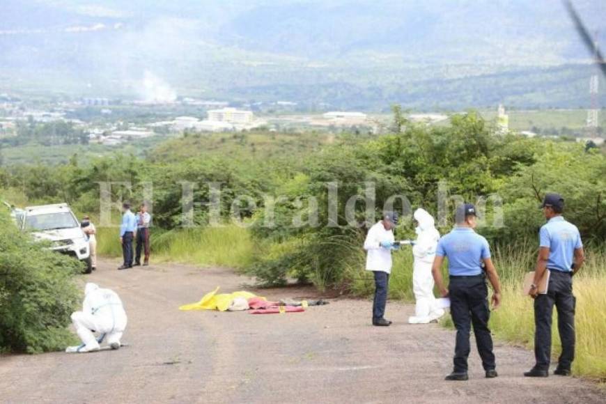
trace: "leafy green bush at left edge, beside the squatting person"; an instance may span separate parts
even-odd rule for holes
[[[33,242],[0,214],[0,350],[45,352],[74,338],[66,328],[81,264]]]

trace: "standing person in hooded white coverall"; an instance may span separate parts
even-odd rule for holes
[[[412,247],[414,256],[412,290],[417,302],[414,316],[408,318],[408,323],[427,324],[444,315],[444,310],[437,306],[437,300],[433,295],[434,281],[431,274],[440,232],[435,228],[433,217],[426,210],[421,208],[415,210],[414,219],[419,222],[419,226],[415,229],[417,241]]]

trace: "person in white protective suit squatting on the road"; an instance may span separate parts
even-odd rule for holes
[[[95,283],[86,283],[82,311],[72,313],[72,323],[82,345],[70,346],[65,352],[94,352],[107,336],[111,349],[120,348],[120,339],[126,328],[126,312],[122,300],[111,289],[102,289]],[[101,334],[95,339],[93,332]]]

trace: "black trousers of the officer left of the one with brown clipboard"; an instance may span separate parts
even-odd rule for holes
[[[454,371],[467,372],[469,357],[469,329],[474,326],[476,345],[485,371],[494,369],[495,354],[492,352],[492,336],[488,328],[488,287],[482,276],[451,277],[449,284],[450,312],[456,327]]]

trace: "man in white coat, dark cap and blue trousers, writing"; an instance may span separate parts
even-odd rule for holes
[[[366,240],[366,270],[375,275],[375,298],[373,300],[373,325],[387,327],[391,321],[385,320],[385,304],[387,304],[387,291],[389,289],[389,274],[391,273],[391,250],[397,249],[394,244],[393,229],[398,224],[396,212],[386,212],[383,219],[374,224]]]

